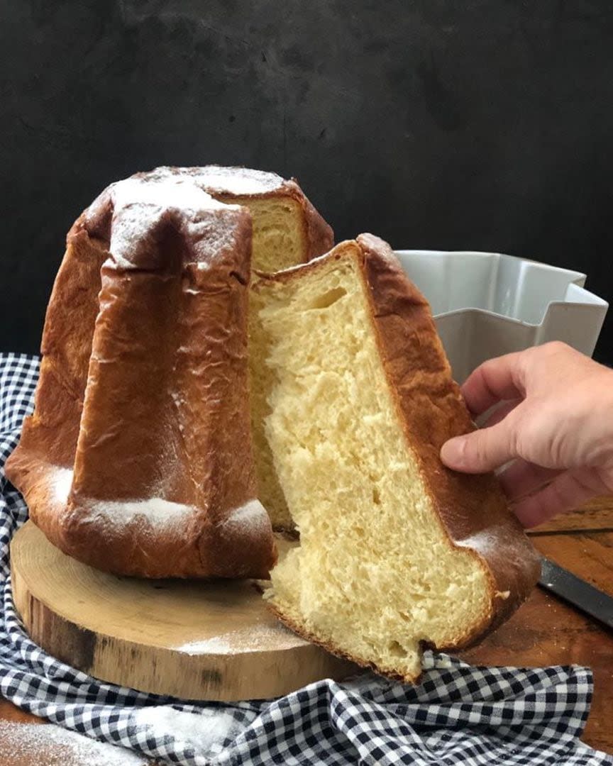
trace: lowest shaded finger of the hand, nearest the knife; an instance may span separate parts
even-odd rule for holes
[[[589,470],[567,471],[540,492],[518,502],[513,511],[523,526],[533,527],[605,491],[605,484]]]

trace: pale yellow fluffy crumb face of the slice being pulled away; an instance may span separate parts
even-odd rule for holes
[[[306,637],[414,680],[421,642],[491,617],[488,572],[441,525],[388,387],[357,244],[261,286],[265,433],[300,546],[266,597]]]

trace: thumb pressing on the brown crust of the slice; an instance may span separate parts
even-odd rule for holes
[[[517,457],[514,441],[508,421],[501,421],[446,441],[441,460],[448,468],[464,473],[487,473]]]

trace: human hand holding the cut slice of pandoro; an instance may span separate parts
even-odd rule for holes
[[[484,427],[448,440],[445,465],[499,474],[524,526],[613,492],[613,370],[560,342],[490,359],[462,387]]]

